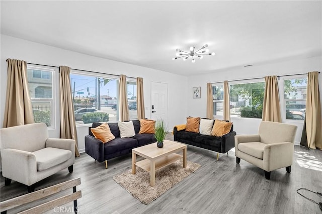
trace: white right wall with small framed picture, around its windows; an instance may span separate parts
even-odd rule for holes
[[[304,59],[296,59],[278,63],[271,63],[267,65],[254,65],[251,67],[234,68],[221,72],[214,72],[211,74],[200,74],[196,76],[188,77],[188,116],[192,117],[206,117],[206,102],[207,102],[207,82],[220,82],[224,80],[239,80],[247,78],[257,78],[269,75],[288,75],[307,73],[310,71],[322,70],[322,57],[310,57]],[[320,98],[322,100],[322,74],[319,74],[319,89]],[[297,76],[292,76],[297,77]],[[282,90],[283,79],[279,80],[279,89]],[[201,98],[192,98],[192,87],[201,86]],[[283,94],[283,93],[280,93]],[[283,104],[283,96],[280,97],[281,105]],[[285,109],[284,109],[285,112]],[[282,113],[284,113],[282,110]],[[282,117],[283,118],[283,117]],[[285,117],[284,117],[285,118]],[[218,119],[222,119],[218,117]],[[259,124],[262,119],[250,119],[250,118],[231,118],[233,122],[234,131],[237,134],[257,134]],[[295,143],[299,144],[302,135],[303,121],[290,121],[283,120],[283,123],[289,123],[296,125],[297,133],[295,137]]]

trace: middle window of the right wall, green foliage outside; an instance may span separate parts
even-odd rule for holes
[[[262,118],[265,82],[230,84],[230,117]]]

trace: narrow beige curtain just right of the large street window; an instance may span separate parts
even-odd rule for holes
[[[120,121],[129,120],[129,108],[127,105],[126,76],[120,75]]]

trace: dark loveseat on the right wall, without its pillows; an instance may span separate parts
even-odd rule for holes
[[[219,152],[226,153],[235,147],[234,137],[236,132],[233,131],[233,125],[230,132],[221,137],[202,135],[200,133],[187,132],[186,130],[178,131],[176,127],[173,130],[173,134],[174,141],[218,152],[217,160],[219,159]]]

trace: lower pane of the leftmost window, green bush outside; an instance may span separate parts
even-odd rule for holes
[[[45,123],[51,126],[51,103],[50,101],[31,101],[35,123]]]

